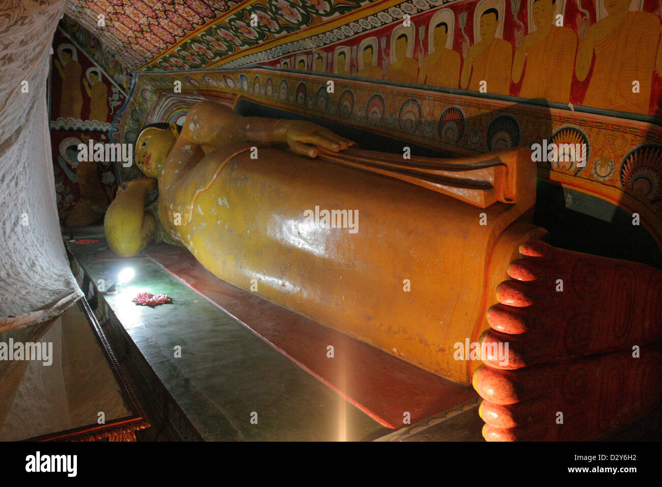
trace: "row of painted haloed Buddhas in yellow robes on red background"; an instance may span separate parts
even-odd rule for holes
[[[573,19],[566,0],[528,0],[528,34],[516,15],[520,0],[510,3],[512,17],[504,0],[477,4],[473,44],[465,34],[467,13],[446,8],[425,25],[403,21],[380,40],[315,50],[285,59],[281,67],[649,113],[654,71],[662,74],[661,23],[657,13],[641,11],[643,0],[598,0],[594,23],[581,0]],[[512,29],[514,42],[504,39],[506,21],[520,26]],[[575,96],[573,79],[582,83]]]

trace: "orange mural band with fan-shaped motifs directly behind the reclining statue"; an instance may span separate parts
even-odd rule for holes
[[[272,69],[140,73],[119,138],[134,142],[142,125],[185,115],[199,99],[228,107],[241,97],[338,121],[457,155],[504,150],[548,139],[586,144],[586,164],[542,160],[539,176],[626,211],[637,211],[662,246],[662,129],[643,121],[515,101],[425,89],[279,72]],[[173,94],[175,80],[182,93]]]

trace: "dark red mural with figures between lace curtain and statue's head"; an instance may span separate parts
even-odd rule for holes
[[[111,122],[126,95],[61,30],[54,35],[53,52],[50,135],[58,215],[66,224],[87,222],[101,218],[112,201],[119,165],[111,161],[79,162],[78,144],[111,141]],[[85,203],[74,211],[82,200]]]

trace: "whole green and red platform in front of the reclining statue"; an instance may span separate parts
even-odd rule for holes
[[[148,412],[178,439],[483,441],[473,389],[230,286],[185,248],[117,258],[96,231],[65,239],[74,274]],[[125,267],[134,279],[100,292]],[[173,302],[135,305],[142,290]]]

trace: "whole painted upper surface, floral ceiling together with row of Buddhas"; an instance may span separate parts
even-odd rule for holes
[[[131,68],[258,63],[660,115],[657,0],[120,4],[73,0],[68,13],[107,15],[91,32]]]

